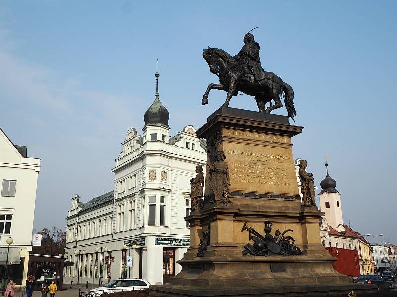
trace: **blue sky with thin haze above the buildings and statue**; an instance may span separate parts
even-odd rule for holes
[[[397,243],[396,1],[1,1],[0,126],[42,159],[35,228],[65,227],[70,199],[113,189],[114,159],[160,99],[171,134],[225,99],[202,50],[236,54],[253,27],[262,66],[295,92],[295,158],[316,183],[324,156],[345,224]],[[253,98],[231,107],[256,110]],[[286,114],[283,109],[279,111]]]

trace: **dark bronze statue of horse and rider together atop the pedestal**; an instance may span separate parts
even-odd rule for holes
[[[227,91],[223,106],[228,107],[232,96],[241,91],[254,96],[259,112],[270,113],[283,106],[280,99],[283,97],[288,117],[295,122],[294,91],[280,77],[262,68],[259,59],[260,47],[250,32],[244,35],[244,46],[234,57],[222,49],[204,49],[202,56],[208,63],[209,70],[219,77],[219,84],[208,85],[201,104],[208,104],[209,91],[218,89]],[[270,106],[265,109],[266,103]]]

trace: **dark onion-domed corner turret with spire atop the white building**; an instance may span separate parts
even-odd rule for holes
[[[160,102],[158,95],[158,77],[160,74],[156,72],[156,97],[153,104],[146,110],[143,119],[145,126],[143,127],[143,143],[146,141],[162,141],[168,143],[170,138],[170,126],[168,119],[170,114],[167,108]]]

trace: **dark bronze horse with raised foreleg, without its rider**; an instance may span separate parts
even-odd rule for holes
[[[212,89],[227,91],[224,107],[228,107],[232,96],[237,95],[237,91],[241,91],[247,95],[255,96],[259,112],[270,113],[283,106],[281,96],[284,98],[288,117],[295,122],[294,91],[290,85],[283,82],[273,72],[265,71],[265,78],[259,81],[251,79],[249,82],[242,82],[241,64],[238,56],[232,57],[222,49],[210,47],[204,49],[202,56],[208,63],[210,71],[219,77],[219,84],[208,85],[201,102],[202,105],[208,104],[209,91]],[[274,105],[272,105],[272,100],[274,100]],[[270,103],[270,106],[265,109],[267,102]]]

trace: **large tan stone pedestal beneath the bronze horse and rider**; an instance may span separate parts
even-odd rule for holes
[[[204,203],[185,218],[191,246],[178,261],[182,271],[151,292],[308,296],[373,288],[350,284],[333,269],[336,258],[320,242],[323,213],[301,206],[291,138],[302,129],[286,116],[234,108],[208,118],[197,131],[208,150]],[[222,187],[230,180],[223,192],[213,180],[218,175]],[[225,191],[227,199],[216,198]]]

